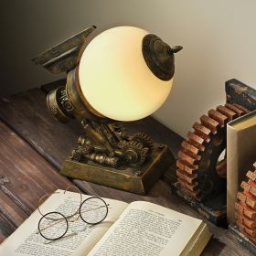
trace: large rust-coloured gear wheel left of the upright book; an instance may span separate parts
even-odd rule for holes
[[[227,162],[225,158],[219,161],[227,147],[227,123],[248,112],[240,105],[226,104],[194,123],[176,161],[178,182],[189,196],[202,201],[227,189]]]

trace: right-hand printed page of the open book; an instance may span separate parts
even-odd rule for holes
[[[152,203],[133,202],[89,255],[180,255],[201,223]]]

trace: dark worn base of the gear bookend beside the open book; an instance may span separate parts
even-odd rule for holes
[[[187,195],[178,182],[171,185],[172,192],[183,199],[188,206],[194,208],[198,213],[207,218],[217,226],[227,225],[226,194],[206,200],[204,203],[198,202],[195,198]],[[225,194],[225,195],[224,195]]]

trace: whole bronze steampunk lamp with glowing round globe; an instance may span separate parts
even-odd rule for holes
[[[67,72],[66,86],[48,93],[48,109],[84,130],[61,174],[144,195],[174,157],[166,145],[146,133],[128,134],[117,121],[142,119],[163,104],[182,47],[138,27],[113,27],[89,41],[95,28],[33,59],[53,73]]]

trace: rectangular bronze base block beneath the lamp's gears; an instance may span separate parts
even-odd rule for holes
[[[120,165],[112,168],[91,161],[81,163],[67,159],[60,174],[145,195],[173,161],[174,156],[166,145],[154,144],[151,154],[142,166]]]

